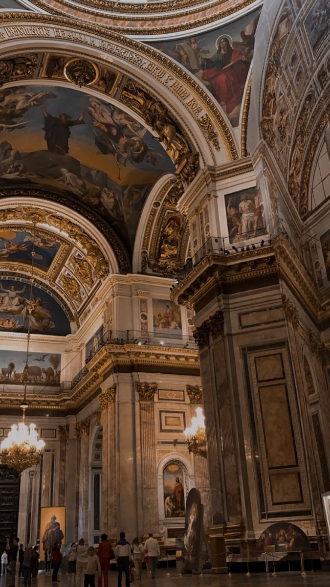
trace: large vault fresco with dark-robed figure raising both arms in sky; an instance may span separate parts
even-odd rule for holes
[[[66,87],[2,89],[0,129],[1,186],[67,194],[105,218],[129,251],[151,186],[175,171],[136,119]]]

